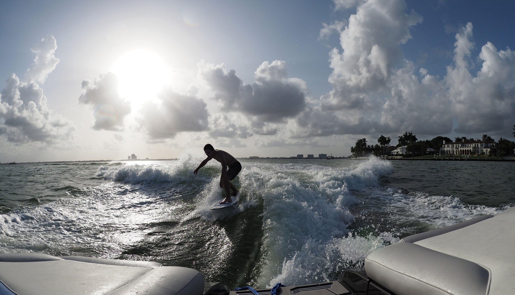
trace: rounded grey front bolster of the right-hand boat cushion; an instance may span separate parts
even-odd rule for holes
[[[485,295],[490,272],[473,262],[412,243],[396,243],[365,259],[369,278],[396,294]]]

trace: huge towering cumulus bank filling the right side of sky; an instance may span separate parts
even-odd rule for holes
[[[444,77],[407,60],[401,45],[422,21],[403,0],[335,1],[357,5],[330,52],[333,89],[320,105],[289,124],[297,137],[413,131],[496,132],[515,122],[515,52],[488,42],[472,56],[473,26],[457,30],[453,60]],[[474,61],[481,67],[474,72]],[[356,115],[359,114],[359,116]],[[511,124],[511,125],[510,125]],[[457,126],[453,130],[453,125]]]

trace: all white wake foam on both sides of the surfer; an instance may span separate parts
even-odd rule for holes
[[[262,205],[263,240],[255,286],[292,285],[334,280],[339,271],[360,266],[370,251],[398,240],[396,232],[374,228],[382,225],[381,219],[366,224],[371,228],[365,237],[352,234],[351,209],[389,214],[388,219],[400,224],[417,221],[433,227],[504,209],[469,205],[453,196],[385,188],[381,179],[392,173],[392,166],[370,159],[242,161],[243,170],[234,182],[240,201],[228,209],[210,210],[225,192],[219,187],[218,162],[211,161],[193,174],[203,159],[203,154],[188,151],[177,161],[102,165],[98,176],[108,180],[102,185],[82,188],[71,195],[75,198],[2,214],[0,251],[89,250],[116,256],[125,244],[144,238],[145,231],[138,229],[141,224],[182,218],[216,227],[216,221]],[[169,199],[159,203],[168,189],[187,191],[193,203],[181,205]],[[131,227],[134,230],[125,230]],[[231,247],[223,233],[220,244],[226,248],[213,250],[213,257],[205,259],[224,261],[216,256]]]

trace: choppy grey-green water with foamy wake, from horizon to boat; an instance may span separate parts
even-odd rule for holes
[[[515,204],[513,163],[242,160],[0,166],[0,252],[150,260],[231,288],[334,280],[409,234]]]

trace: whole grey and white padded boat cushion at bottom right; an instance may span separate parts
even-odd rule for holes
[[[397,294],[515,294],[515,207],[402,239],[365,259]]]

